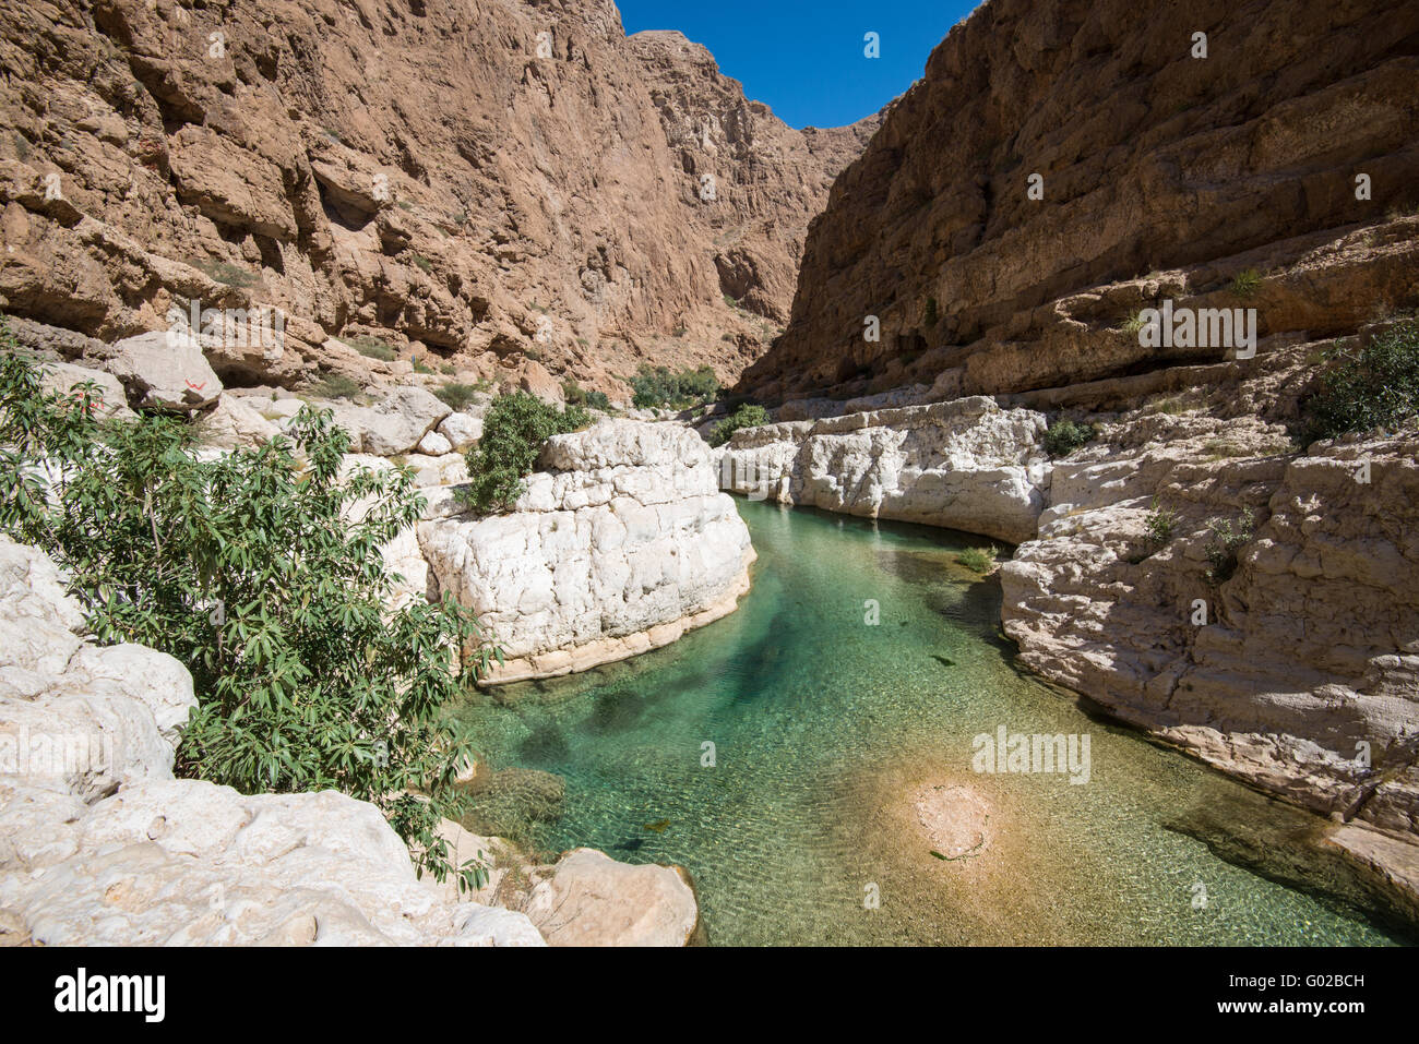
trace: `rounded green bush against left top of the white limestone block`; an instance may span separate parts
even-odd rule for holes
[[[481,512],[507,511],[526,489],[522,479],[532,474],[542,444],[590,421],[579,406],[558,410],[526,392],[498,396],[482,418],[482,440],[467,452],[464,504]]]

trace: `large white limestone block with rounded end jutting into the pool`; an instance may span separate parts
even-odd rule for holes
[[[419,526],[440,590],[504,648],[490,681],[622,660],[736,607],[753,549],[692,431],[606,420],[548,440],[541,464],[514,512]]]

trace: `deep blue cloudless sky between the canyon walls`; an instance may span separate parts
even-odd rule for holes
[[[978,0],[616,0],[626,33],[678,28],[789,126],[841,126],[900,95]],[[868,31],[881,57],[863,57]]]

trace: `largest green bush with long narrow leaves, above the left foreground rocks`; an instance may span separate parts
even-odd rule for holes
[[[380,548],[420,516],[413,472],[342,481],[349,435],[309,406],[294,443],[210,461],[179,420],[99,421],[88,406],[43,393],[7,346],[0,529],[68,572],[99,641],[192,671],[177,770],[243,793],[342,790],[385,813],[420,872],[475,877],[434,837],[461,814],[471,755],[440,709],[501,652],[450,596],[389,607]]]

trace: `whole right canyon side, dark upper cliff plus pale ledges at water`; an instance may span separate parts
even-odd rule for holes
[[[745,373],[809,420],[725,455],[768,464],[771,495],[891,516],[929,410],[1090,426],[988,521],[969,501],[995,461],[949,450],[996,414],[937,435],[958,491],[937,523],[1023,533],[1000,572],[1022,661],[1413,841],[1415,437],[1307,445],[1298,420],[1340,339],[1413,321],[1416,176],[1413,4],[992,0],[834,184],[789,329]],[[1164,340],[1145,309],[1237,336]],[[1412,905],[1413,845],[1381,862]]]

